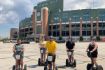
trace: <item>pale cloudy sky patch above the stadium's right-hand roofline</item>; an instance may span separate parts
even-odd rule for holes
[[[64,10],[105,8],[105,0],[64,0]]]

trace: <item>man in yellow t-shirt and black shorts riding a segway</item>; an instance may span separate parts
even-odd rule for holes
[[[46,43],[47,49],[47,60],[44,70],[57,70],[55,65],[56,60],[56,42],[53,40],[53,37],[49,37],[49,41]]]

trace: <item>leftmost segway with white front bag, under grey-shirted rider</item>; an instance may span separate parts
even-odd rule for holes
[[[16,69],[16,65],[13,65],[12,70],[22,70],[21,63],[20,63],[20,59],[22,57],[21,53],[22,53],[21,51],[16,51],[16,54],[14,55],[14,57],[15,57],[16,60],[19,61],[18,69]],[[27,65],[26,64],[24,65],[24,70],[27,70]]]

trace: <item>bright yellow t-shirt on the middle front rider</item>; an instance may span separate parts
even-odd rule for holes
[[[46,49],[48,53],[55,54],[56,53],[56,42],[55,41],[47,41],[46,42]]]

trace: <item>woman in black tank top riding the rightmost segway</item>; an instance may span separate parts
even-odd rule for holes
[[[102,66],[98,65],[96,62],[98,56],[98,45],[95,42],[95,38],[92,39],[86,51],[87,56],[91,59],[91,63],[87,64],[87,70],[103,70]]]

